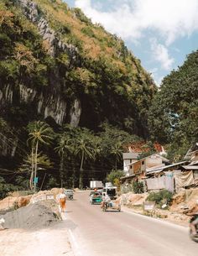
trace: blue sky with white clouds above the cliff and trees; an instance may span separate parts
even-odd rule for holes
[[[122,38],[158,86],[198,49],[198,0],[65,0]]]

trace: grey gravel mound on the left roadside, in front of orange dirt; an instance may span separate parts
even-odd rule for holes
[[[38,229],[49,227],[51,224],[59,221],[57,211],[52,209],[57,208],[55,201],[39,201],[29,206],[24,206],[13,212],[8,212],[2,217],[5,220],[4,227],[6,228],[24,228]]]

